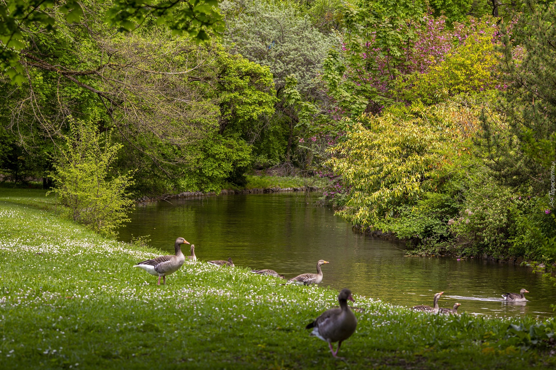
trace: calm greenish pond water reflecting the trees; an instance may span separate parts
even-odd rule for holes
[[[329,207],[315,205],[316,194],[281,193],[210,196],[137,206],[131,224],[120,231],[150,235],[152,246],[173,253],[182,236],[195,244],[201,260],[227,260],[236,266],[272,268],[294,277],[322,267],[321,285],[349,287],[359,295],[396,305],[440,307],[461,303],[459,312],[480,315],[552,316],[556,290],[526,267],[455,257],[404,257],[404,245],[351,230]],[[188,254],[188,251],[184,250]],[[526,288],[529,302],[505,303],[502,292]]]

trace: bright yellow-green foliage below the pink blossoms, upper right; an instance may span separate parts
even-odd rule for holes
[[[488,93],[495,90],[497,79],[492,75],[498,64],[493,36],[497,27],[483,20],[445,59],[433,65],[427,73],[400,78],[397,95],[409,102],[421,100],[436,104],[458,94]]]

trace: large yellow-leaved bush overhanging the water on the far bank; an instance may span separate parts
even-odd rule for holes
[[[345,121],[345,140],[330,148],[326,162],[349,189],[337,214],[372,226],[393,207],[414,204],[434,190],[438,170],[461,155],[474,130],[473,111],[457,105],[391,109]]]

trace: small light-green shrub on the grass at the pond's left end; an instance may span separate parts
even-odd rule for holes
[[[54,192],[62,214],[103,235],[115,235],[132,206],[126,189],[131,172],[111,176],[121,144],[111,142],[110,132],[100,134],[91,123],[69,117],[69,134],[54,159]]]

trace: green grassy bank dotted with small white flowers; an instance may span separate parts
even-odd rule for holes
[[[0,368],[556,364],[550,348],[507,330],[510,322],[528,328],[530,318],[432,316],[356,294],[354,305],[365,308],[356,313],[358,331],[342,346],[345,361],[333,359],[304,327],[337,305],[336,291],[281,286],[245,268],[207,263],[184,265],[157,286],[155,277],[132,265],[160,251],[132,249],[26,205],[26,199],[47,202],[36,191],[0,192]]]

